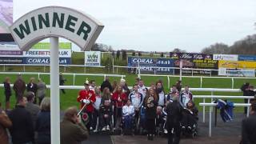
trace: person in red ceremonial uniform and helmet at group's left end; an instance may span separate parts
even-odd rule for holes
[[[85,85],[85,89],[79,91],[77,101],[81,103],[81,109],[83,108],[83,106],[86,105],[86,107],[83,110],[83,112],[88,114],[88,117],[89,117],[89,122],[86,124],[86,128],[88,130],[92,130],[93,129],[91,126],[93,121],[92,113],[94,112],[93,103],[96,101],[96,96],[94,91],[90,90],[89,88],[90,84],[88,80],[86,80],[84,85]]]

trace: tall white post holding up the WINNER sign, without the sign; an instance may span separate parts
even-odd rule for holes
[[[58,37],[50,38],[50,138],[60,144]]]

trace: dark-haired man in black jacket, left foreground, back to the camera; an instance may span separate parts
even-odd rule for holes
[[[10,128],[10,135],[13,144],[33,143],[34,127],[31,114],[25,109],[26,97],[18,99],[18,104],[10,112],[10,121],[13,126]]]

